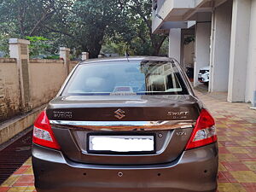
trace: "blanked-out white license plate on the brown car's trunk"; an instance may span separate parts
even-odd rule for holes
[[[90,152],[154,152],[154,135],[148,136],[89,136]]]

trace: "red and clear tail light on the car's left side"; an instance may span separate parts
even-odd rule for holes
[[[33,143],[47,148],[61,149],[60,145],[55,139],[51,126],[49,125],[49,119],[45,111],[38,115],[38,119],[36,119],[34,123],[32,140]]]

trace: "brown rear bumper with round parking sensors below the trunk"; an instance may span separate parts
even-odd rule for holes
[[[60,151],[34,145],[32,165],[38,192],[192,192],[216,191],[217,143],[183,152],[160,165],[89,165]]]

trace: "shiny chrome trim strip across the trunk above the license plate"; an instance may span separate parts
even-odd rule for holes
[[[90,131],[146,131],[193,128],[195,120],[166,121],[70,121],[49,120],[56,128],[85,129]]]

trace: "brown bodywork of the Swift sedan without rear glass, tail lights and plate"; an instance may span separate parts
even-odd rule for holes
[[[99,61],[177,62],[141,56],[82,61],[79,65]],[[184,95],[65,95],[79,65],[45,109],[61,150],[37,144],[32,148],[38,192],[216,191],[217,143],[185,150],[203,104],[181,67],[177,65],[188,90]],[[95,153],[89,150],[90,135],[150,135],[154,136],[154,151]]]

